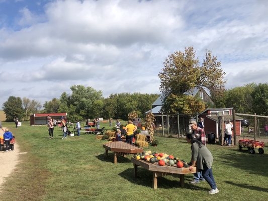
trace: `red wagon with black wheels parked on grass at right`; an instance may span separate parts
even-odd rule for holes
[[[260,154],[264,153],[264,142],[255,141],[255,140],[238,140],[238,148],[239,150],[242,150],[242,148],[246,147],[247,150],[250,151],[251,154],[255,153],[255,148],[258,148],[258,152]]]

